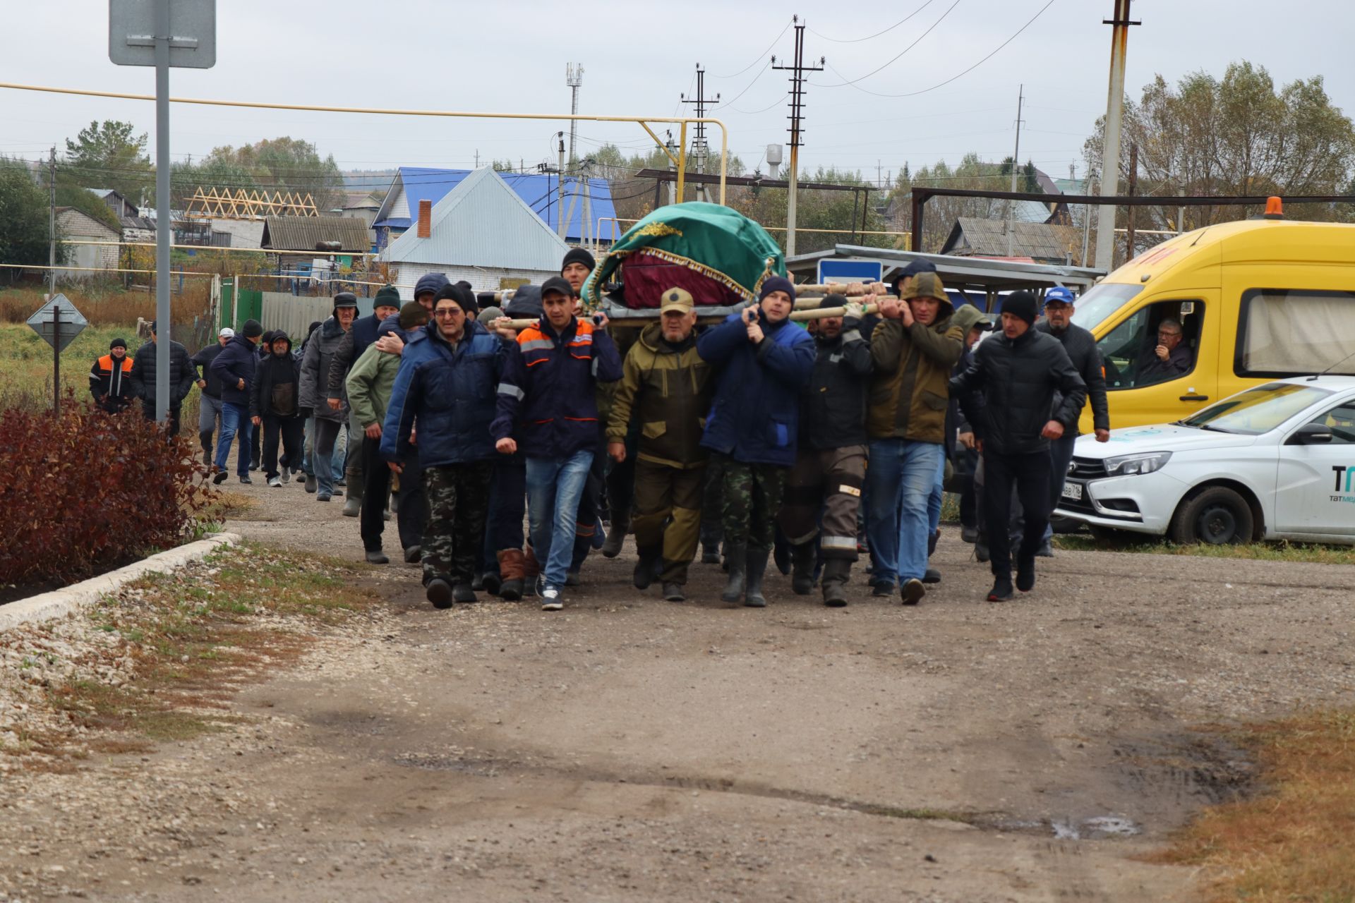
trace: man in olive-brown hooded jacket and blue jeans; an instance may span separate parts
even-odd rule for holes
[[[954,306],[934,272],[913,276],[904,301],[881,305],[883,321],[870,340],[875,375],[866,432],[866,533],[875,562],[875,596],[890,596],[898,581],[905,605],[925,594],[927,504],[946,463],[946,408],[950,371],[965,349]]]

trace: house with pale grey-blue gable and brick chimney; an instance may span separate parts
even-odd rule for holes
[[[413,226],[381,249],[404,301],[415,284],[440,272],[476,291],[541,284],[560,275],[569,245],[489,167],[472,171],[434,203],[420,198]]]

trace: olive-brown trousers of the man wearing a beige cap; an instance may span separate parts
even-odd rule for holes
[[[635,551],[663,562],[660,579],[686,583],[687,565],[696,556],[705,467],[668,467],[635,462]]]

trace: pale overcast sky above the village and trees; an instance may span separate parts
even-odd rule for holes
[[[103,0],[4,0],[9,32],[0,81],[152,93],[153,70],[108,61]],[[1081,175],[1081,145],[1106,108],[1111,0],[813,0],[786,5],[745,0],[656,4],[446,3],[421,0],[220,0],[217,65],[175,69],[175,96],[356,107],[568,112],[565,64],[584,66],[580,112],[672,116],[679,93],[707,93],[726,106],[709,115],[729,125],[730,149],[749,168],[770,142],[787,141],[787,73],[798,12],[808,24],[806,60],[827,57],[805,99],[802,169],[859,169],[869,179],[967,152],[1011,154],[1018,85],[1026,110],[1020,158],[1054,176]],[[904,16],[905,23],[866,38]],[[1004,41],[973,72],[934,91]],[[1126,91],[1138,96],[1154,73],[1169,81],[1230,61],[1264,65],[1278,84],[1321,74],[1333,103],[1355,114],[1350,0],[1137,0]],[[931,28],[930,34],[921,37]],[[920,39],[919,39],[920,38]],[[906,50],[902,57],[892,57]],[[888,65],[886,65],[888,64]],[[866,73],[883,66],[878,73]],[[855,85],[847,80],[860,79]],[[817,87],[825,85],[825,87]],[[839,87],[828,87],[839,85]],[[881,95],[924,91],[908,97]],[[35,158],[92,119],[126,119],[150,133],[145,102],[0,89],[0,153]],[[554,160],[561,125],[322,112],[279,112],[175,104],[172,154],[199,157],[218,145],[291,135],[332,153],[344,169],[394,165],[469,167],[509,157]],[[568,130],[568,125],[564,126]],[[661,133],[660,133],[661,134]],[[640,126],[579,125],[580,156],[612,141],[646,148]],[[718,134],[711,134],[718,148]]]

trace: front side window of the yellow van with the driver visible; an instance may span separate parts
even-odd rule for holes
[[[1096,343],[1106,367],[1106,389],[1138,389],[1190,374],[1195,370],[1203,317],[1199,301],[1159,301],[1135,310]],[[1176,332],[1180,340],[1163,360],[1159,343],[1171,344],[1167,336]]]

